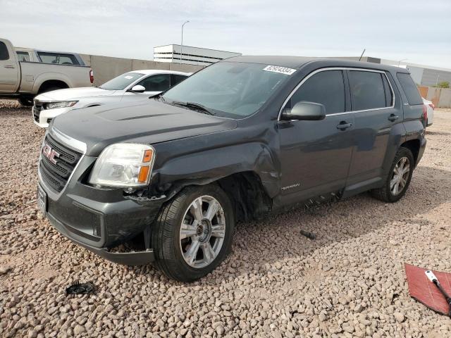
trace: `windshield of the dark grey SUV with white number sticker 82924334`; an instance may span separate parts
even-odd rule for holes
[[[244,118],[263,106],[290,77],[276,68],[257,63],[215,63],[169,89],[163,99],[169,104],[200,104],[222,117]]]

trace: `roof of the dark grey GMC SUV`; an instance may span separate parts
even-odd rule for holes
[[[261,63],[264,65],[278,65],[288,68],[302,68],[307,63],[318,63],[320,67],[350,67],[369,68],[376,70],[391,70],[397,73],[409,73],[408,70],[393,65],[381,65],[363,61],[348,61],[338,58],[308,58],[304,56],[235,56],[226,58],[223,61]]]

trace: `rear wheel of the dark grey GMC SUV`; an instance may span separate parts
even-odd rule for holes
[[[388,203],[399,201],[407,192],[413,172],[414,156],[412,151],[402,146],[395,155],[385,184],[381,188],[373,189],[371,193],[381,201]]]

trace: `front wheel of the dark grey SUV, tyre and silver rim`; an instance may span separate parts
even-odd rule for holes
[[[152,228],[157,268],[180,282],[198,280],[228,255],[234,225],[230,199],[216,184],[183,189]]]

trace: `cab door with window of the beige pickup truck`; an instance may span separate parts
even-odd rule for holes
[[[15,93],[19,85],[19,64],[8,40],[0,39],[0,92]]]

